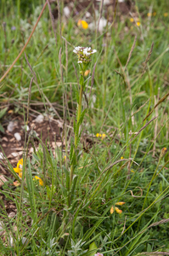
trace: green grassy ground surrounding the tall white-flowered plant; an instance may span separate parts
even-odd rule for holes
[[[151,7],[152,15],[148,16]],[[166,1],[136,1],[134,15],[140,24],[132,22],[130,15],[116,14],[113,26],[100,34],[77,27],[80,17],[65,22],[61,4],[62,23],[56,23],[56,44],[47,6],[25,49],[40,87],[32,84],[31,104],[44,102],[46,106],[46,96],[63,106],[59,115],[64,118],[66,114],[72,124],[79,73],[73,49],[77,45],[97,49],[90,67],[93,72],[97,61],[92,96],[82,123],[82,137],[91,135],[94,145],[87,154],[79,144],[71,188],[69,138],[65,152],[58,150],[56,159],[41,144],[31,159],[24,161],[25,182],[16,189],[9,185],[11,179],[3,185],[2,193],[14,201],[17,216],[8,218],[5,209],[1,210],[6,230],[0,241],[1,255],[169,252],[169,164],[168,154],[164,155],[162,149],[168,148],[168,8]],[[28,15],[29,8],[23,14],[20,1],[1,2],[1,20],[5,22],[0,30],[1,77],[19,55],[41,9],[40,3],[38,7],[31,5]],[[64,38],[60,38],[60,30]],[[125,68],[129,53],[132,56]],[[21,55],[0,85],[1,109],[11,104],[15,113],[23,113],[31,78]],[[90,90],[91,82],[86,94]],[[82,104],[86,108],[85,100]],[[95,137],[96,133],[106,137]],[[14,174],[9,162],[8,168]],[[42,178],[43,186],[33,181],[35,175]],[[110,208],[119,201],[125,202],[119,207],[121,214],[110,214]]]

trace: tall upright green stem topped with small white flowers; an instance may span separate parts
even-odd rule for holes
[[[91,49],[90,47],[81,47],[77,46],[73,52],[78,56],[77,63],[80,67],[80,93],[78,98],[78,107],[77,107],[77,115],[76,115],[76,124],[74,125],[74,132],[75,132],[75,143],[74,143],[74,149],[72,153],[71,158],[71,166],[70,166],[70,186],[73,180],[73,174],[74,174],[74,168],[76,166],[76,149],[78,146],[78,142],[80,140],[80,126],[82,124],[82,119],[84,118],[84,113],[82,112],[82,94],[83,90],[85,89],[85,76],[87,67],[90,64],[91,55],[93,55],[95,52],[97,52],[96,49]],[[84,110],[83,110],[84,111]]]

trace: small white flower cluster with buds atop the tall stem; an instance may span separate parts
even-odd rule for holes
[[[81,47],[77,46],[74,50],[74,53],[78,55],[77,63],[88,63],[91,61],[90,56],[97,52],[96,49],[91,49],[91,47]]]

